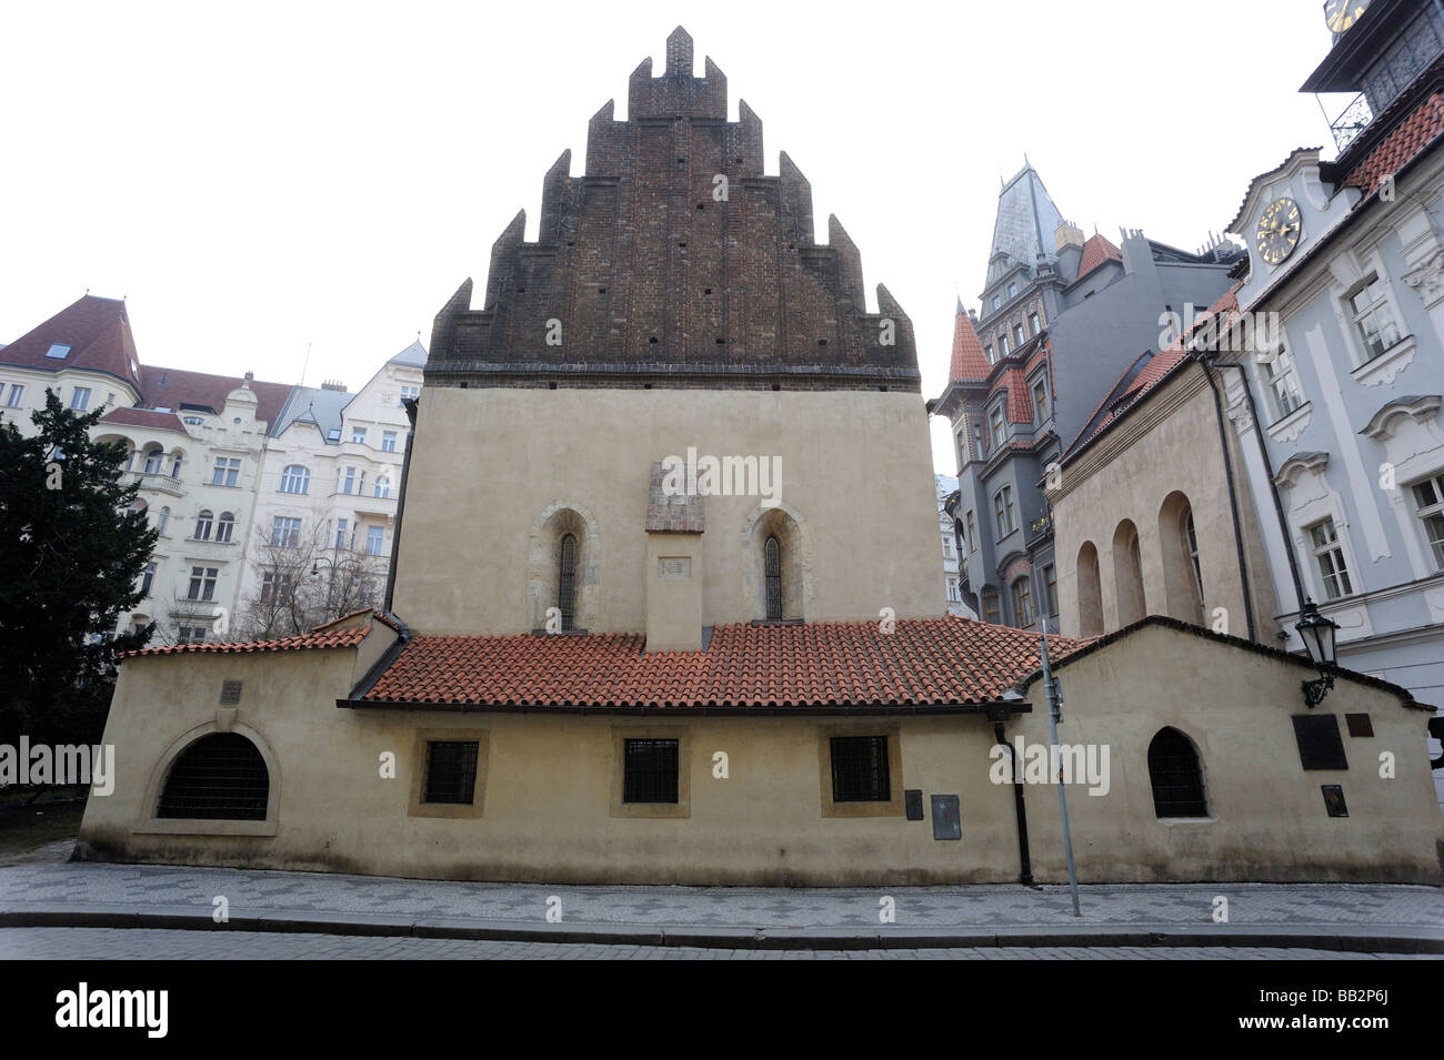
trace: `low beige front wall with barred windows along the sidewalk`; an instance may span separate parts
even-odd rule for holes
[[[368,637],[370,642],[370,637]],[[374,658],[383,645],[368,645]],[[989,779],[992,727],[980,717],[648,717],[338,710],[368,658],[352,650],[185,655],[129,661],[105,731],[116,790],[91,798],[81,829],[95,852],[134,861],[243,864],[387,875],[554,883],[812,884],[1012,881],[1012,792]],[[1438,883],[1424,741],[1428,714],[1340,681],[1320,711],[1365,711],[1372,738],[1344,736],[1349,770],[1305,773],[1289,717],[1304,712],[1304,668],[1145,626],[1060,671],[1064,743],[1109,746],[1110,790],[1069,792],[1084,881],[1383,880]],[[214,730],[225,678],[245,681],[237,731],[273,764],[273,821],[250,834],[225,823],[144,831],[169,757]],[[1038,701],[1038,689],[1030,692]],[[157,704],[165,704],[157,710]],[[1045,743],[1037,712],[1008,725]],[[1154,815],[1148,743],[1162,725],[1203,757],[1212,818]],[[1343,727],[1343,723],[1340,723]],[[417,731],[485,737],[479,813],[412,813]],[[823,738],[894,731],[897,790],[960,796],[962,841],[934,841],[931,821],[833,816]],[[618,737],[683,737],[686,816],[615,815]],[[474,736],[475,738],[475,736]],[[380,776],[396,754],[394,779]],[[728,779],[713,756],[728,756]],[[1378,754],[1396,756],[1396,779]],[[1341,783],[1350,818],[1328,818],[1318,785]],[[1027,787],[1038,878],[1064,878],[1056,787]],[[835,811],[833,811],[835,812]],[[140,829],[140,831],[137,831]],[[241,829],[247,831],[247,829]]]

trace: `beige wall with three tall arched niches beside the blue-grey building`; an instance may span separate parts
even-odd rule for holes
[[[1170,495],[1183,492],[1193,511],[1203,573],[1203,624],[1214,609],[1227,611],[1227,633],[1248,637],[1227,479],[1219,450],[1219,421],[1203,369],[1188,365],[1151,392],[1145,402],[1063,469],[1053,502],[1058,568],[1058,609],[1064,636],[1080,636],[1079,551],[1097,548],[1103,597],[1103,630],[1119,629],[1118,570],[1113,538],[1118,526],[1138,528],[1144,575],[1144,613],[1168,614],[1168,557],[1160,513]],[[1245,557],[1253,593],[1255,639],[1276,646],[1274,590],[1264,560],[1258,516],[1243,477],[1233,430],[1227,431],[1235,469],[1235,496],[1243,526]],[[1272,513],[1269,513],[1272,515]],[[1183,613],[1174,614],[1194,620]]]

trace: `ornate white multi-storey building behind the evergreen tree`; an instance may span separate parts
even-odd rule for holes
[[[0,346],[0,421],[32,434],[46,389],[78,411],[104,407],[95,438],[126,444],[136,503],[160,532],[144,599],[118,629],[155,622],[153,643],[225,640],[277,597],[276,577],[266,578],[273,542],[299,549],[316,539],[306,565],[321,591],[308,586],[308,603],[325,607],[338,565],[371,571],[375,584],[351,591],[380,603],[406,447],[401,398],[419,394],[425,362],[413,343],[354,395],[250,372],[152,368],[140,363],[126,303],[87,294]],[[287,467],[305,476],[287,479]]]

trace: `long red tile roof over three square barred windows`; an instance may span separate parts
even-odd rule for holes
[[[1087,642],[1050,637],[1058,658]],[[370,704],[830,707],[980,704],[1038,666],[1038,636],[972,619],[718,626],[705,652],[643,655],[644,637],[419,636]]]

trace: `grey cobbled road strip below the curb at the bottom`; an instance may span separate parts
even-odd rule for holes
[[[471,939],[380,939],[260,932],[12,927],[0,930],[9,960],[1376,960],[1392,953],[1340,953],[1258,946],[1030,946],[985,949],[760,950],[696,946],[599,946]],[[1409,956],[1405,959],[1431,959]],[[1432,958],[1440,959],[1440,958]]]

